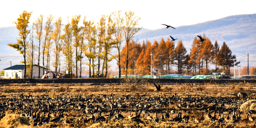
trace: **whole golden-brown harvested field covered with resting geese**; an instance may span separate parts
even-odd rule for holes
[[[8,124],[5,120],[26,117],[27,127],[255,127],[255,121],[243,119],[248,112],[252,117],[256,114],[256,84],[156,84],[163,90],[155,91],[147,82],[2,84],[0,125],[24,127],[26,123]],[[245,95],[239,97],[238,93]],[[207,109],[215,118],[207,119]],[[233,111],[238,117],[235,121],[231,119]],[[222,121],[228,112],[230,119]],[[184,118],[174,119],[178,115]],[[43,123],[48,116],[52,122]]]

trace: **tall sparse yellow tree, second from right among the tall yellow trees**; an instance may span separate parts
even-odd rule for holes
[[[124,17],[121,16],[121,11],[115,12],[113,14],[113,24],[114,24],[114,40],[115,40],[115,47],[118,51],[118,56],[116,57],[117,59],[117,65],[119,69],[119,78],[121,78],[121,63],[120,63],[120,51],[121,51],[121,43],[122,43],[122,25],[124,23]]]

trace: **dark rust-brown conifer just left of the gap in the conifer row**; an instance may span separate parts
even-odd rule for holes
[[[182,40],[180,40],[174,50],[174,65],[177,65],[179,74],[182,74],[182,68],[185,66],[187,60],[186,56],[187,50],[183,46]]]

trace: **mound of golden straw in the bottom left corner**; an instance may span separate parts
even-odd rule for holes
[[[4,118],[1,119],[0,125],[6,128],[13,128],[30,124],[29,120],[24,116],[18,114],[6,114]]]

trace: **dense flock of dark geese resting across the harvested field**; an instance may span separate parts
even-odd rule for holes
[[[161,91],[160,85],[154,84],[156,91]],[[128,95],[1,95],[1,119],[5,113],[16,113],[28,118],[31,124],[43,125],[49,122],[62,122],[74,126],[74,123],[93,123],[99,121],[130,120],[137,123],[160,121],[199,123],[210,122],[233,123],[255,121],[250,110],[247,118],[241,119],[240,105],[255,97],[241,98],[238,96],[203,96],[178,95],[176,92],[156,96],[151,94]],[[229,107],[227,107],[229,106]],[[76,115],[72,115],[74,111]],[[135,113],[135,115],[133,114]],[[185,113],[185,114],[184,114]],[[232,113],[232,114],[230,114]],[[128,115],[129,114],[129,115]],[[143,118],[141,116],[143,114]],[[154,116],[155,115],[155,116]],[[174,117],[177,115],[176,117]],[[154,118],[153,118],[154,116]],[[174,118],[173,118],[174,117]]]

